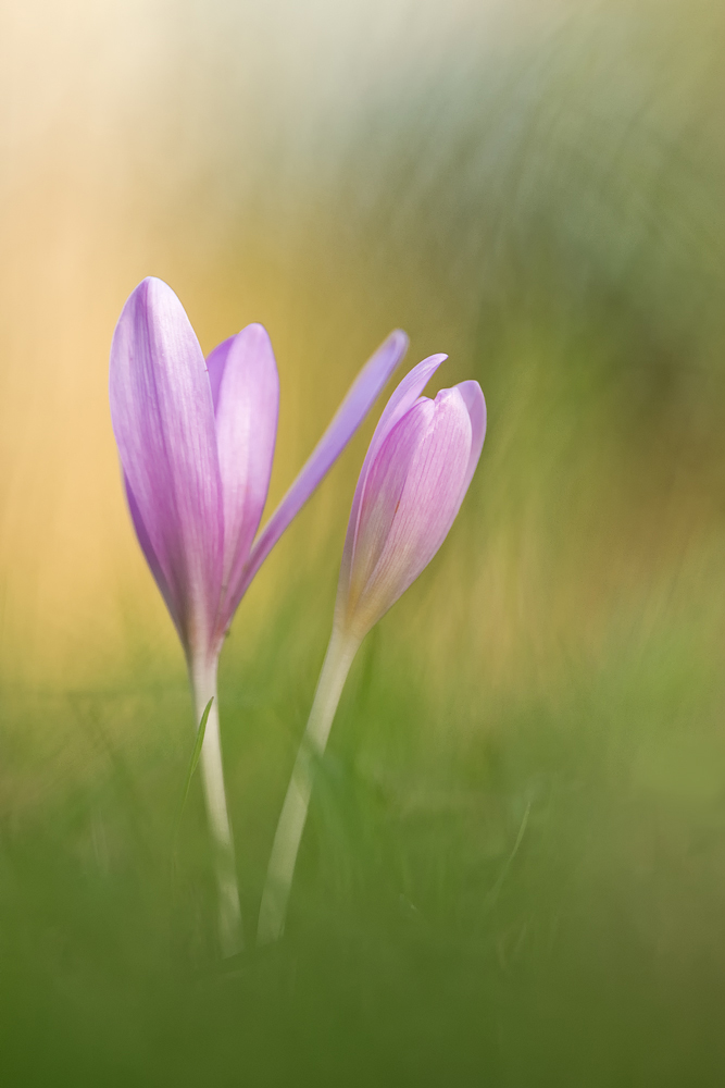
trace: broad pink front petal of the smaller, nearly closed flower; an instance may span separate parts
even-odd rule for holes
[[[435,401],[416,403],[379,446],[359,510],[349,585],[340,582],[338,615],[359,636],[405,592],[448,535],[471,445],[468,409],[453,388],[441,390]]]

